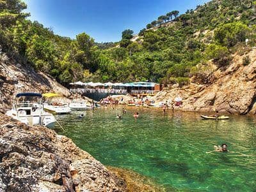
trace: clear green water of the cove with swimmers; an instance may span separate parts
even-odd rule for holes
[[[140,113],[136,121],[134,112]],[[255,191],[256,119],[202,120],[200,114],[122,108],[61,115],[67,135],[104,165],[127,168],[179,191]],[[228,144],[232,152],[206,152]],[[168,190],[167,190],[168,191]]]

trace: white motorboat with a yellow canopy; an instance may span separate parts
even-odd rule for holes
[[[53,97],[61,97],[60,94],[56,93],[45,93],[43,94],[44,98],[53,98]],[[71,109],[68,107],[68,104],[61,104],[58,102],[51,102],[44,103],[44,109],[51,112],[52,114],[70,114]]]

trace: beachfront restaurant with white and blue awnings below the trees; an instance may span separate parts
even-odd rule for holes
[[[154,95],[161,91],[161,86],[154,82],[105,83],[75,82],[70,83],[70,92],[80,93],[88,98],[106,98],[113,94]]]

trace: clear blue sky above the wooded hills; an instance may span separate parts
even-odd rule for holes
[[[138,33],[169,11],[184,13],[209,0],[24,0],[30,20],[55,34],[76,38],[82,32],[97,42],[119,41],[125,29]]]

